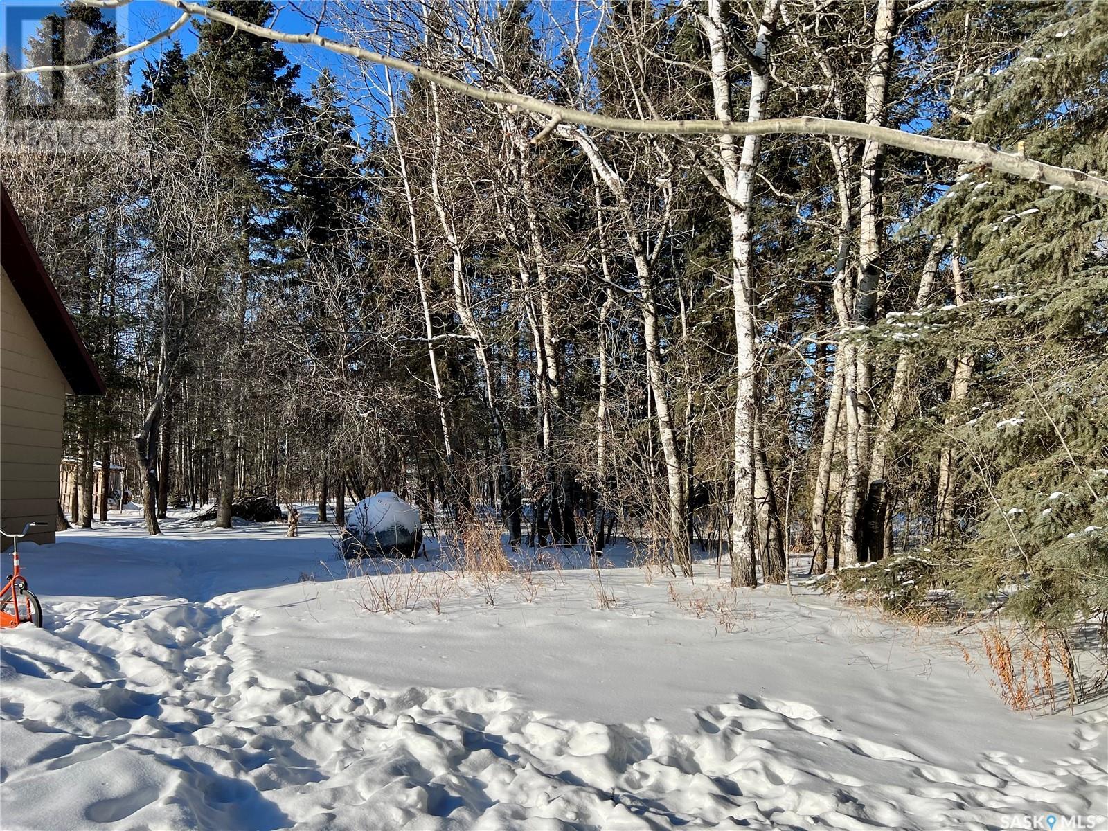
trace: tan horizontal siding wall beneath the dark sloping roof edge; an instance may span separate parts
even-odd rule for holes
[[[69,384],[7,273],[0,275],[0,525],[18,533],[45,522],[28,538],[51,543]]]

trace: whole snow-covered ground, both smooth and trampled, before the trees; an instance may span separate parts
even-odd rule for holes
[[[604,570],[603,585],[587,568],[482,581],[433,554],[417,573],[346,578],[334,526],[310,519],[295,540],[184,517],[151,540],[125,513],[28,545],[47,625],[0,633],[0,827],[994,829],[1108,814],[1104,706],[1012,712],[942,632],[808,589],[733,594],[710,563],[693,585],[636,567]],[[389,604],[418,608],[368,611]]]

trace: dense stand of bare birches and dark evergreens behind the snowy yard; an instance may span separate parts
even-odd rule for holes
[[[137,40],[95,6],[94,57]],[[99,461],[151,534],[389,489],[737,586],[1108,609],[1108,4],[202,7],[314,51],[170,6],[195,48],[7,82],[126,75],[125,151],[0,162],[110,387],[72,521]]]

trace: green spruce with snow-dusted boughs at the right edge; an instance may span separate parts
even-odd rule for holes
[[[950,99],[966,115],[938,132],[1108,170],[1108,8],[1010,8],[986,10],[1004,18],[1005,48],[983,50],[993,63]],[[947,269],[965,296],[947,289],[884,332],[912,339],[921,361],[946,372],[970,356],[972,379],[961,400],[940,390],[905,428],[932,459],[952,453],[956,532],[925,561],[892,568],[889,596],[903,605],[953,586],[1066,645],[1075,623],[1108,611],[1108,208],[963,168],[920,225],[953,240]],[[905,584],[910,575],[917,581]]]

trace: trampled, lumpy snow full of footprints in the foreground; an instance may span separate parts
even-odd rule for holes
[[[89,599],[6,633],[6,831],[993,829],[1098,813],[1108,792],[1102,712],[1046,766],[937,763],[771,698],[701,708],[678,735],[489,689],[273,677],[249,647],[254,618],[218,597]]]

